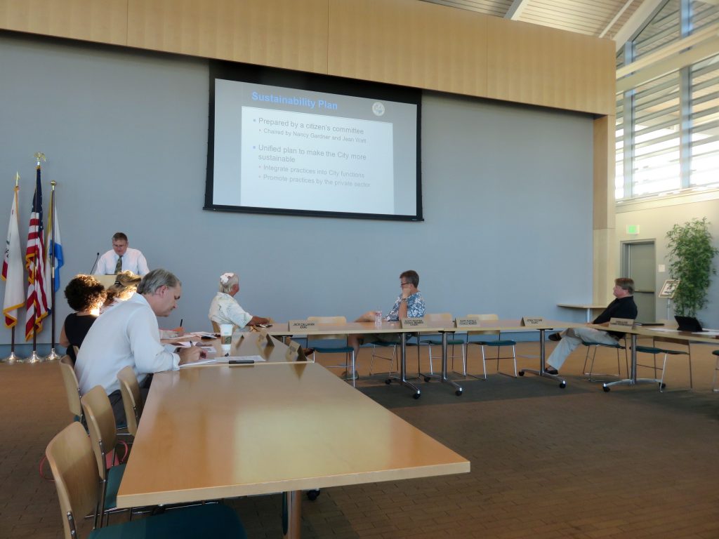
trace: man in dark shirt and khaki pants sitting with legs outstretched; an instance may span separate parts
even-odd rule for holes
[[[611,318],[636,318],[636,303],[634,303],[634,281],[626,277],[614,280],[614,297],[603,312],[594,319],[592,324],[608,323]],[[601,331],[595,328],[569,328],[562,333],[554,333],[549,336],[551,341],[559,341],[557,348],[546,360],[545,372],[557,374],[562,368],[567,356],[582,344],[582,341],[598,344],[616,344],[624,336],[618,331]]]

